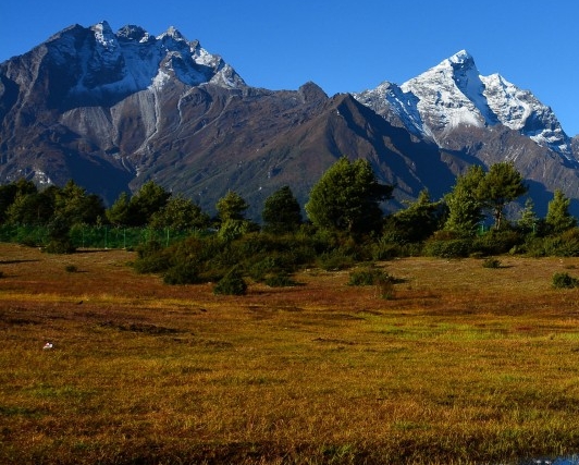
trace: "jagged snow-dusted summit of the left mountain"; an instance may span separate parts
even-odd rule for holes
[[[139,26],[113,33],[106,21],[90,27],[65,28],[33,50],[59,76],[58,99],[64,106],[118,100],[145,89],[159,89],[171,78],[188,86],[215,84],[245,86],[235,70],[211,54],[199,41],[187,40],[177,29],[155,37]]]

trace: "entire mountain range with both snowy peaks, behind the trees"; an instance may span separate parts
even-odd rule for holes
[[[505,159],[544,209],[554,188],[579,198],[578,145],[532,94],[481,76],[466,52],[402,86],[333,97],[313,83],[247,86],[174,28],[75,25],[0,64],[0,182],[74,179],[108,203],[152,179],[209,212],[234,189],[259,219],[283,185],[304,204],[346,155],[396,185],[386,209]]]

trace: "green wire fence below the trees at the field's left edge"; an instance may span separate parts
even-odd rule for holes
[[[70,231],[73,245],[77,248],[135,248],[139,244],[157,241],[165,246],[189,235],[197,230],[173,230],[151,228],[114,228],[109,225],[74,225]],[[49,243],[49,231],[41,225],[2,224],[0,242],[11,242],[34,246]]]

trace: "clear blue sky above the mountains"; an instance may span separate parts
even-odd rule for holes
[[[466,49],[579,134],[579,2],[572,0],[4,0],[0,62],[62,28],[107,20],[159,35],[175,26],[247,84],[327,94],[402,84]]]

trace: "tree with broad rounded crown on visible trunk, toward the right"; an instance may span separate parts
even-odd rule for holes
[[[479,184],[477,195],[484,207],[492,211],[494,227],[500,230],[505,206],[526,194],[527,191],[525,180],[515,166],[503,161],[491,166]]]

